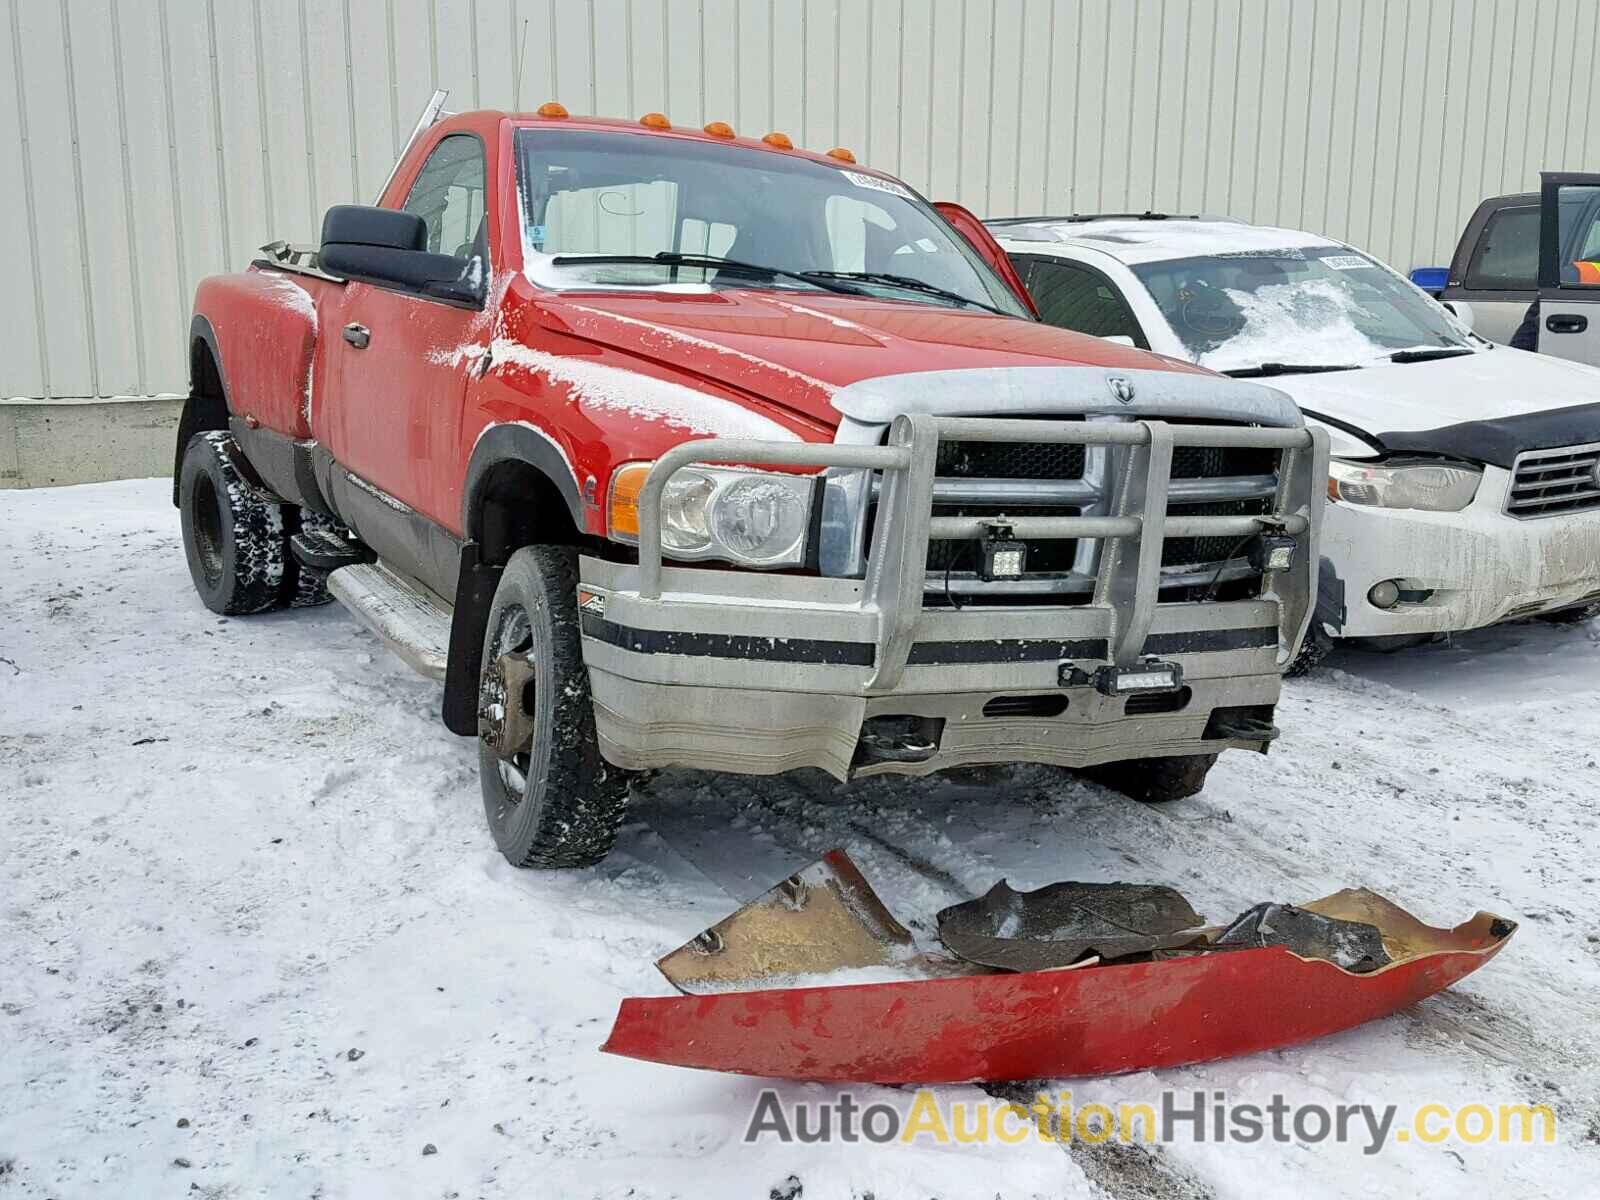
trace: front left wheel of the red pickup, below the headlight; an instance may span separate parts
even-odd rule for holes
[[[595,738],[576,550],[530,546],[512,555],[490,606],[478,678],[478,778],[494,845],[514,867],[594,866],[616,842],[629,773],[600,757]],[[507,714],[512,706],[520,712]],[[530,734],[502,757],[491,739],[504,741],[517,723]]]

